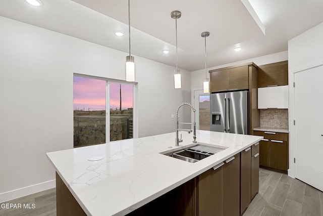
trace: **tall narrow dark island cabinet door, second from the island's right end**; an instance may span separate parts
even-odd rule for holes
[[[243,214],[251,202],[251,147],[241,151],[240,160],[240,214]]]

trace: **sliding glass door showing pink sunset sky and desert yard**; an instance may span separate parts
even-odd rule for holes
[[[133,138],[134,85],[82,76],[73,82],[74,147]]]

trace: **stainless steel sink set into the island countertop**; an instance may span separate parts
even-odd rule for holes
[[[213,154],[221,152],[227,149],[227,147],[209,146],[207,144],[197,143],[197,145],[187,147],[181,150],[175,150],[168,153],[161,153],[170,157],[174,157],[180,160],[185,160],[190,163],[195,163]]]

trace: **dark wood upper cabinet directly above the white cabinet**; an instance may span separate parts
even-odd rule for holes
[[[258,88],[271,85],[288,85],[288,61],[258,67]]]

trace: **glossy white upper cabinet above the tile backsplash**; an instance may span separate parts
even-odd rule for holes
[[[288,109],[288,85],[258,89],[258,109]]]

